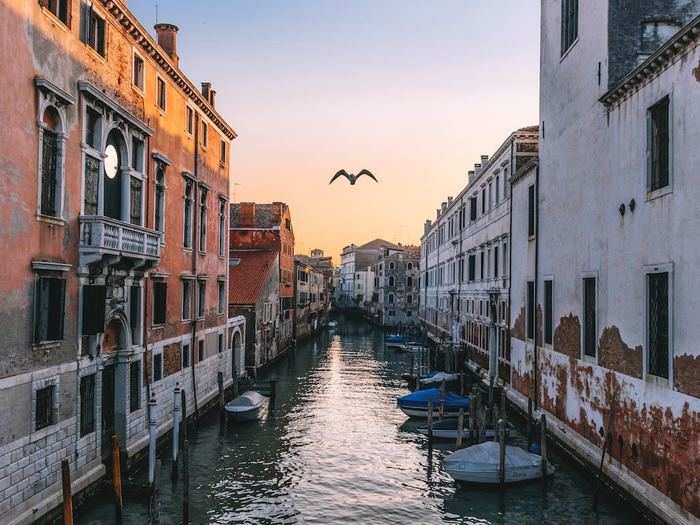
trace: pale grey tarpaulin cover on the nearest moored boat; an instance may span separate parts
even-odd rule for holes
[[[498,469],[500,445],[496,441],[484,441],[479,445],[457,450],[445,458],[445,466],[461,471]],[[506,445],[506,469],[541,468],[542,457],[520,447]]]

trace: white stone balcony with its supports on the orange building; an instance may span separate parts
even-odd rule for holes
[[[80,217],[80,265],[97,262],[132,267],[160,261],[162,233],[96,215]]]

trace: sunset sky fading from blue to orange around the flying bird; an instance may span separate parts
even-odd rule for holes
[[[538,122],[537,0],[129,0],[180,28],[180,66],[234,127],[232,199],[289,204],[296,253],[426,219]],[[328,184],[340,169],[369,169]]]

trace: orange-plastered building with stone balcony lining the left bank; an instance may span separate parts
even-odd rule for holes
[[[177,28],[156,32],[124,2],[0,3],[5,523],[58,504],[63,459],[78,491],[112,435],[131,457],[149,415],[166,432],[176,384],[192,413],[231,381],[236,135],[180,69]]]

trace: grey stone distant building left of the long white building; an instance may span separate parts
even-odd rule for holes
[[[419,322],[418,281],[420,248],[386,249],[373,265],[372,319],[382,326],[410,326]]]

